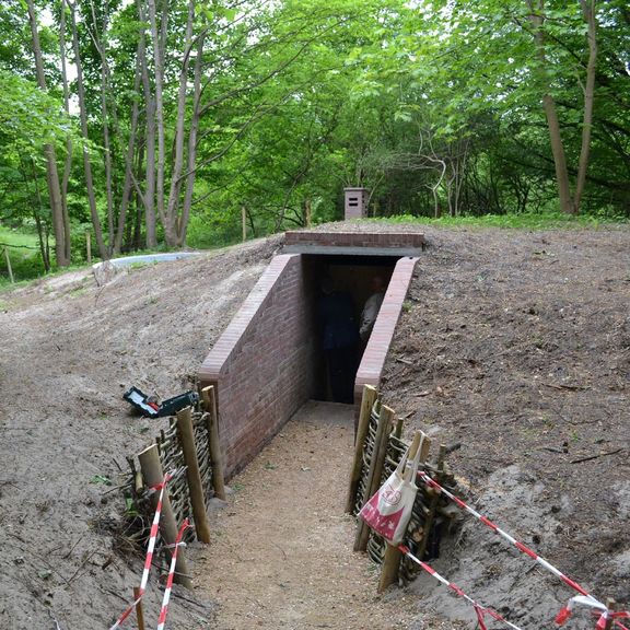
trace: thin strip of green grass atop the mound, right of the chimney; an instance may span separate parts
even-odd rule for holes
[[[435,228],[502,228],[509,230],[571,230],[579,228],[597,229],[606,225],[628,224],[623,217],[570,215],[563,213],[486,214],[483,217],[412,217],[400,214],[387,219],[364,219],[363,221],[387,223],[417,223]]]

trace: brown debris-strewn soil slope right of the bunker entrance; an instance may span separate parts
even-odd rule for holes
[[[386,399],[409,430],[460,444],[450,462],[477,508],[599,599],[628,604],[630,232],[428,236]],[[524,628],[575,594],[474,520],[451,542],[435,568]],[[416,591],[462,618],[430,578]]]

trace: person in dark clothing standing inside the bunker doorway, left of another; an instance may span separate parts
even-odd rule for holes
[[[325,278],[317,306],[332,400],[352,404],[359,343],[352,298],[350,293],[337,291],[334,281]]]

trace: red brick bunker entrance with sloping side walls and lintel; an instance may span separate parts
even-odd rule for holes
[[[320,325],[320,284],[329,277],[348,291],[360,316],[374,276],[385,299],[354,375],[377,386],[418,255],[420,233],[288,232],[199,370],[199,385],[218,394],[221,448],[228,477],[243,468],[308,399],[330,398]]]

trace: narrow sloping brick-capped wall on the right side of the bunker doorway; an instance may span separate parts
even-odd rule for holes
[[[409,289],[417,261],[418,258],[400,258],[394,268],[392,280],[389,280],[389,285],[385,293],[385,300],[374,323],[372,335],[357,372],[357,380],[354,381],[354,400],[357,405],[361,404],[363,385],[377,387],[381,382],[385,359],[394,338],[394,331],[402,311],[402,303],[407,296],[407,290]]]

